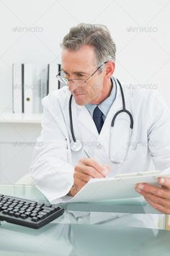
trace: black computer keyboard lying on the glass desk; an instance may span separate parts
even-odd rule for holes
[[[39,229],[63,212],[64,209],[60,207],[0,194],[0,221]]]

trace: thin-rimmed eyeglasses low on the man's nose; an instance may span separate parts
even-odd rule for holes
[[[100,67],[102,67],[104,64],[106,64],[107,61],[105,61],[102,65],[100,65],[94,72],[93,74],[91,74],[86,80],[80,80],[80,79],[68,79],[67,77],[63,77],[61,76],[61,72],[63,71],[61,69],[60,72],[58,72],[58,74],[56,75],[58,81],[62,82],[63,84],[65,85],[69,85],[69,82],[73,82],[74,85],[77,85],[77,86],[84,86],[86,85],[86,82],[89,81],[89,79],[97,72],[97,70],[99,70]]]

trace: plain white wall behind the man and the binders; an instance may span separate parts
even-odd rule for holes
[[[115,76],[127,85],[157,88],[170,106],[169,13],[170,3],[166,0],[0,1],[1,112],[12,111],[12,63],[60,62],[59,43],[69,27],[80,22],[107,25],[117,44]],[[1,136],[8,137],[6,129],[2,130]],[[0,148],[0,161],[7,164],[4,142]],[[24,172],[29,168],[27,155],[31,153],[30,149],[23,151]],[[13,154],[13,148],[8,148],[8,155],[12,158]],[[13,162],[8,173],[15,170],[22,174],[19,158],[15,159],[18,161]],[[7,179],[14,182],[10,175]]]

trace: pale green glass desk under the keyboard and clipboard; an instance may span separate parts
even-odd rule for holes
[[[40,202],[35,186],[0,185],[0,193]],[[1,222],[0,255],[166,256],[170,231],[143,200],[63,204],[65,213],[41,229]],[[160,218],[159,218],[160,219]],[[164,218],[161,218],[163,220]]]

